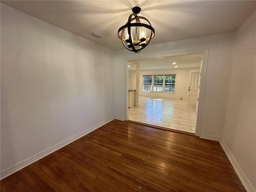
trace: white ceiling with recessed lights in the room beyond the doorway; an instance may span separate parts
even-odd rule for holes
[[[136,64],[140,64],[140,70],[159,70],[200,67],[202,54],[171,56],[164,58],[149,58],[141,60],[132,60],[128,62],[129,71],[136,70]],[[176,64],[172,64],[175,62]]]

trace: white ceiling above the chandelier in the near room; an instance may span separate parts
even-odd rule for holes
[[[112,50],[124,49],[117,30],[131,9],[140,6],[156,30],[150,44],[234,31],[255,10],[256,1],[207,0],[21,0],[4,4],[101,44]],[[96,32],[97,39],[88,35]]]

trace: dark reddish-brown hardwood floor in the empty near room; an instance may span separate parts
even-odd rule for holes
[[[1,192],[245,192],[220,144],[113,120],[1,180]]]

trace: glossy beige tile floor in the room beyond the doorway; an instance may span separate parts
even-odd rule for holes
[[[140,97],[140,106],[128,110],[131,121],[195,133],[196,107],[187,100]]]

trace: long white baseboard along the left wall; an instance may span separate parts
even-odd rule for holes
[[[17,172],[18,170],[21,170],[22,168],[24,168],[24,167],[26,167],[26,166],[28,166],[28,165],[30,165],[32,163],[40,160],[41,158],[47,156],[48,154],[51,154],[52,152],[54,152],[54,151],[56,151],[56,150],[58,150],[58,149],[60,149],[60,148],[62,148],[64,146],[70,144],[71,142],[81,138],[82,136],[85,136],[86,134],[88,134],[88,133],[90,133],[90,132],[100,128],[104,124],[107,124],[108,122],[110,122],[110,121],[112,121],[114,119],[115,118],[113,117],[113,118],[110,118],[108,120],[105,120],[105,121],[103,121],[103,122],[101,122],[101,123],[99,123],[99,124],[89,128],[89,129],[87,129],[87,130],[85,130],[85,131],[83,131],[83,132],[81,132],[81,133],[79,133],[79,134],[77,134],[75,136],[72,136],[69,139],[64,140],[64,141],[62,141],[62,142],[60,142],[60,143],[50,147],[50,148],[48,148],[48,149],[46,149],[46,150],[44,150],[44,151],[42,151],[42,152],[40,152],[40,153],[38,153],[36,155],[34,155],[34,156],[24,160],[24,161],[14,165],[14,166],[12,166],[10,168],[7,168],[6,170],[0,172],[0,180],[2,180],[3,178],[8,177],[9,175]]]

